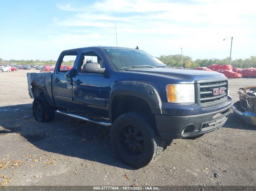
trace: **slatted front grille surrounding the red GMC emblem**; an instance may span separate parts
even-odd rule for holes
[[[225,102],[228,98],[228,80],[210,81],[200,80],[195,84],[195,100],[201,107],[210,107]],[[222,88],[223,92],[214,95],[215,88]]]

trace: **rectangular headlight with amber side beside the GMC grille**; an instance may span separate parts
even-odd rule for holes
[[[168,102],[195,102],[194,84],[168,84],[166,86]]]

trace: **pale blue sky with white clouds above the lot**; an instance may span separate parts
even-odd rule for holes
[[[256,56],[252,0],[0,0],[0,58],[57,60],[66,49],[117,46],[153,56]],[[224,38],[227,38],[223,41]]]

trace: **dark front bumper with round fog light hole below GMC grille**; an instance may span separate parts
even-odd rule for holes
[[[227,121],[231,108],[231,98],[219,110],[212,108],[208,113],[198,115],[155,115],[161,138],[175,139],[198,136],[219,129]],[[191,111],[191,113],[193,113]]]

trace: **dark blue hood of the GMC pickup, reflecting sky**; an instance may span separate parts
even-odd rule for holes
[[[223,74],[205,70],[181,69],[181,68],[136,68],[126,72],[136,72],[149,75],[157,75],[172,79],[179,79],[179,82],[194,83],[199,79],[223,78]]]

